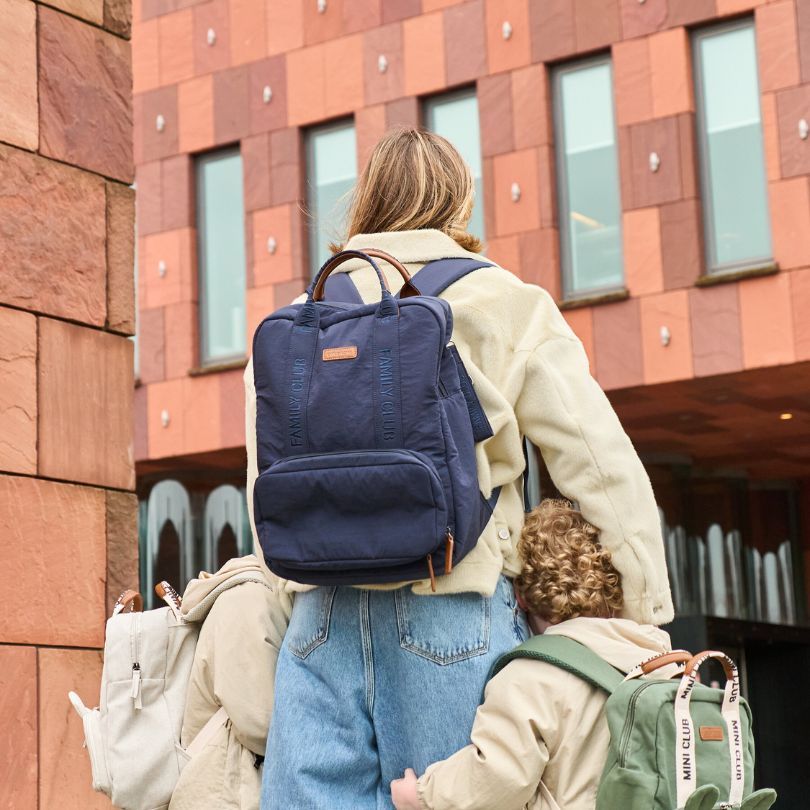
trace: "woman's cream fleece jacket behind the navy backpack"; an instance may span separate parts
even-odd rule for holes
[[[347,248],[373,247],[396,256],[413,274],[434,259],[467,256],[436,230],[358,235]],[[383,263],[391,289],[399,274]],[[379,282],[361,260],[346,262],[364,300],[379,298]],[[501,572],[519,570],[523,526],[522,437],[539,448],[554,483],[578,502],[601,530],[601,542],[622,574],[625,616],[663,624],[673,618],[661,524],[652,487],[613,408],[588,371],[582,344],[551,296],[498,266],[471,273],[443,295],[453,311],[453,341],[464,359],[495,435],[476,448],[478,480],[488,495],[503,487],[493,519],[477,546],[438,580],[438,593],[494,593]],[[256,392],[253,366],[245,370],[247,496],[253,523],[256,462]],[[256,554],[261,551],[256,542]],[[289,590],[307,586],[285,583]],[[397,587],[397,586],[393,586]],[[413,585],[429,594],[430,583]]]

